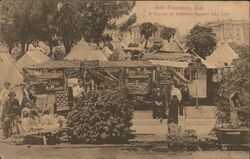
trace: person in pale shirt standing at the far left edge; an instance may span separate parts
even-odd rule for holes
[[[10,92],[10,82],[4,82],[4,87],[0,92],[0,118],[2,115],[3,105],[5,101],[9,98],[8,94]],[[2,128],[2,122],[0,121],[0,129]]]

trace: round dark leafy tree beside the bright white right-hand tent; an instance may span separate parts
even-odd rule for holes
[[[195,25],[186,37],[186,47],[206,58],[216,47],[215,33],[212,28]]]

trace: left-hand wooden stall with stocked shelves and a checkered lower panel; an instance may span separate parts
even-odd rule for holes
[[[68,80],[77,78],[79,61],[48,61],[24,68],[25,80],[33,86],[37,97],[36,107],[49,108],[51,113],[70,109]]]

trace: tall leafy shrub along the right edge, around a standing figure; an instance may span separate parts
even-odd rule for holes
[[[229,96],[239,92],[240,107],[239,120],[243,125],[249,124],[249,46],[241,45],[235,48],[239,58],[234,60],[230,70],[224,70],[222,80],[219,82],[215,103],[219,108],[219,121],[230,123]]]

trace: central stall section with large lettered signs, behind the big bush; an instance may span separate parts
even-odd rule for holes
[[[107,61],[100,62],[99,68],[120,79],[130,95],[146,96],[151,93],[155,66],[149,61]]]

